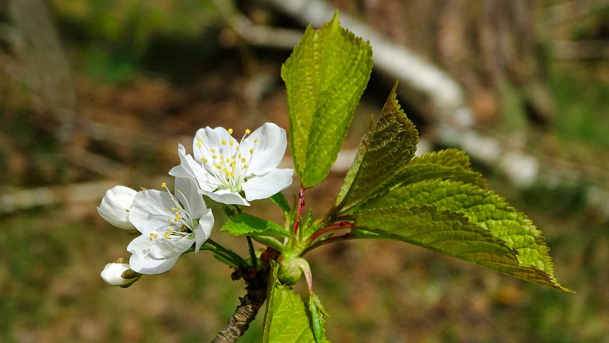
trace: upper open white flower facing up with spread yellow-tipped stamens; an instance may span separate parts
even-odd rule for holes
[[[169,171],[175,177],[192,177],[199,193],[216,202],[249,206],[292,184],[294,169],[278,169],[286,152],[286,131],[267,122],[238,142],[233,129],[199,129],[192,149],[194,158],[178,145],[181,164]],[[245,194],[245,199],[241,193]]]

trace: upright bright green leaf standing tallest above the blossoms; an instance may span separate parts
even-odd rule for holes
[[[370,44],[340,27],[338,12],[319,30],[309,26],[281,67],[290,149],[305,188],[328,175],[371,69]]]

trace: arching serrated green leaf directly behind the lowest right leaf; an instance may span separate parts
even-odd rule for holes
[[[560,286],[555,279],[554,264],[540,230],[537,230],[523,213],[510,207],[504,197],[496,195],[493,191],[462,182],[427,180],[393,189],[388,194],[371,200],[365,208],[392,209],[422,205],[460,213],[470,224],[488,230],[493,236],[516,250],[516,262],[521,269],[514,269],[513,266],[505,269],[498,264],[485,265],[485,267],[572,292]],[[530,269],[532,273],[524,273],[522,269]],[[540,273],[543,273],[541,278]]]

